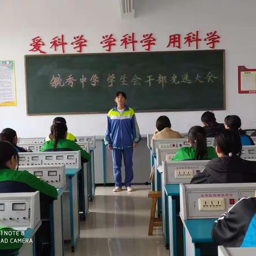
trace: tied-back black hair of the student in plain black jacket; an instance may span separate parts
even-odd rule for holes
[[[237,130],[221,131],[215,137],[215,146],[226,156],[228,156],[229,153],[232,153],[233,156],[241,156],[242,143]]]

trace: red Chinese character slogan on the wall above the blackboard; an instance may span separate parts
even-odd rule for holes
[[[68,43],[65,40],[64,35],[54,36],[50,41],[49,49],[54,52],[57,52],[60,49],[61,53],[65,53],[65,47],[70,44],[73,46],[74,51],[82,53],[88,42],[87,39],[84,38],[84,35],[74,36],[72,40],[72,42]],[[199,44],[204,43],[210,49],[215,49],[216,44],[219,42],[220,36],[216,30],[202,35],[199,35],[199,31],[195,31],[195,33],[190,32],[183,37],[181,34],[169,35],[169,38],[166,38],[166,48],[181,49],[181,45],[183,44],[187,45],[187,47],[195,46],[196,49],[199,49]],[[117,45],[134,52],[135,46],[138,44],[140,44],[145,51],[150,51],[152,49],[154,50],[153,46],[157,44],[157,39],[153,33],[143,34],[142,36],[138,36],[138,38],[135,33],[125,34],[119,40],[113,34],[108,34],[102,36],[99,44],[107,52],[113,50],[113,47],[116,47]],[[47,46],[41,36],[36,36],[31,39],[31,43],[29,45],[31,46],[31,49],[29,49],[30,52],[46,54]]]

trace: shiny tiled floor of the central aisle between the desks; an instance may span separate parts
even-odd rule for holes
[[[134,192],[114,193],[113,187],[97,187],[90,213],[81,222],[75,253],[65,245],[66,256],[167,256],[162,228],[148,236],[150,186],[133,186]]]

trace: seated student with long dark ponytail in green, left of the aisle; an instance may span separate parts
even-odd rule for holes
[[[73,140],[67,138],[68,128],[65,123],[54,123],[51,126],[53,139],[45,141],[40,151],[81,151],[82,162],[90,161],[91,156]]]

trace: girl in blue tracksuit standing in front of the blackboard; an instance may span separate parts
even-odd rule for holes
[[[125,186],[127,191],[133,191],[131,181],[133,179],[132,153],[133,148],[140,141],[140,130],[137,124],[134,110],[125,105],[126,94],[117,92],[115,102],[117,106],[108,112],[107,130],[104,138],[105,145],[112,150],[115,189],[122,190],[122,155],[125,166]]]

